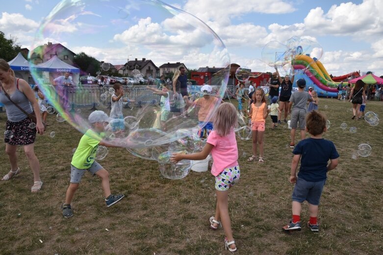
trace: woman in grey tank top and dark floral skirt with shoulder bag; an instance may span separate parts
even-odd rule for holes
[[[23,79],[17,79],[13,70],[3,59],[0,59],[0,82],[2,88],[8,93],[12,101],[16,102],[26,113],[32,113],[33,110],[37,113],[36,127],[32,129],[29,127],[31,120],[28,116],[8,99],[0,87],[0,102],[5,105],[8,118],[4,133],[4,141],[6,143],[5,153],[8,155],[11,165],[11,170],[4,175],[1,181],[8,181],[21,172],[17,164],[16,151],[17,145],[23,145],[34,178],[31,191],[37,192],[43,185],[40,179],[40,163],[34,153],[36,131],[40,135],[44,133],[44,125],[39,114],[39,105],[29,84]]]

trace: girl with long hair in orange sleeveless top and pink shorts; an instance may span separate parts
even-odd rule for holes
[[[250,113],[252,122],[252,146],[253,146],[253,156],[251,156],[247,161],[252,162],[256,160],[256,146],[259,146],[259,163],[263,163],[263,134],[265,133],[265,122],[266,118],[270,112],[266,106],[266,97],[265,93],[261,88],[255,90],[253,94],[253,103],[250,105]]]

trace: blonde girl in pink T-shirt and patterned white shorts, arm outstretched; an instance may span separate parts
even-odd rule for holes
[[[218,107],[214,116],[214,130],[207,137],[206,145],[201,152],[193,154],[174,153],[172,162],[180,160],[204,160],[211,152],[213,165],[211,173],[215,176],[217,206],[215,216],[210,217],[210,228],[217,230],[220,223],[225,231],[225,249],[230,252],[237,250],[231,232],[228,209],[229,188],[239,180],[238,148],[234,127],[237,125],[237,112],[230,103],[223,103]],[[221,222],[220,222],[221,220]]]

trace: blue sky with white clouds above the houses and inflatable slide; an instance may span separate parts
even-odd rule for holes
[[[64,7],[76,0],[66,2],[42,27],[40,23],[59,1],[4,1],[0,31],[16,36],[29,49],[60,42],[76,53],[85,51],[113,64],[145,57],[157,66],[183,62],[198,68],[223,65],[228,55],[231,63],[252,70],[264,69],[256,59],[262,58],[268,42],[285,43],[298,36],[323,47],[320,61],[333,75],[355,70],[383,75],[382,0],[164,0],[206,23],[227,51],[203,23],[174,10],[170,14],[166,6],[148,7],[137,0],[83,0],[78,1],[87,3],[83,9],[71,9]],[[44,31],[37,33],[40,38],[36,38],[38,28]]]

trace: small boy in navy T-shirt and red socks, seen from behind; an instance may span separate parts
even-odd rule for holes
[[[289,182],[294,184],[292,194],[292,220],[282,228],[283,231],[301,231],[302,203],[308,202],[310,220],[307,227],[312,232],[318,232],[318,205],[323,186],[326,183],[327,172],[338,165],[339,154],[332,141],[322,138],[327,131],[326,117],[317,111],[310,112],[306,117],[306,130],[311,138],[301,140],[293,150],[291,174]],[[296,171],[299,160],[298,177]],[[330,164],[327,164],[330,160]]]

